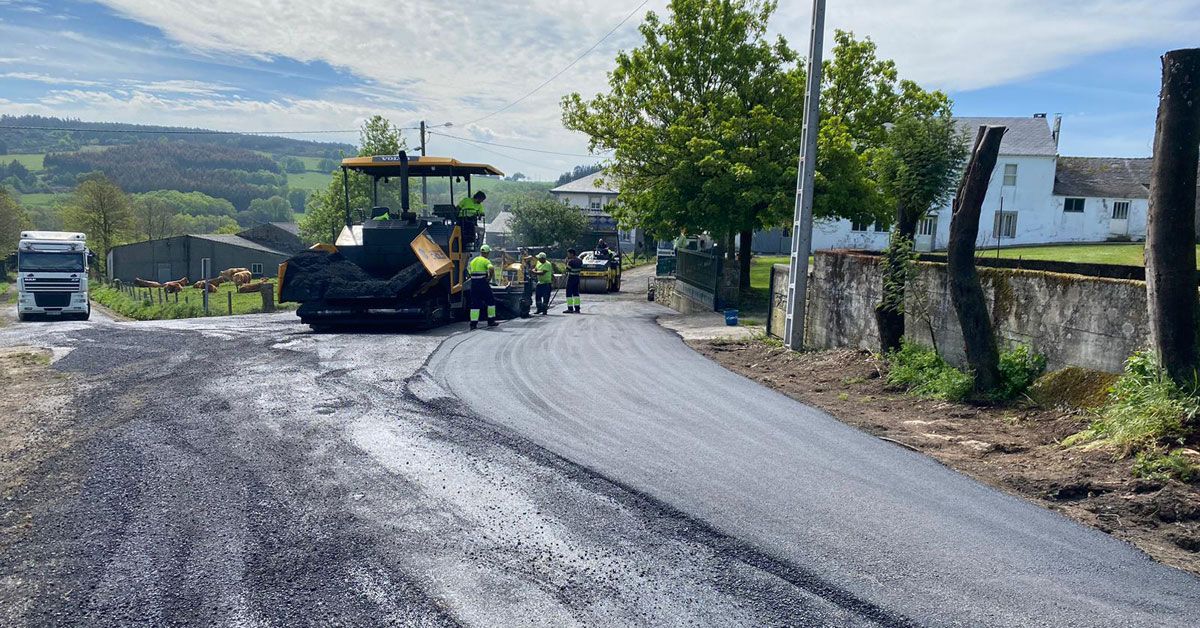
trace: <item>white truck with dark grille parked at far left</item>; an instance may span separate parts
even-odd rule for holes
[[[17,245],[17,317],[82,318],[88,303],[88,237],[28,231]]]

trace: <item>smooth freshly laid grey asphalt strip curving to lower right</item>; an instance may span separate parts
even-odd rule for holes
[[[1200,580],[733,375],[632,299],[449,339],[480,415],[853,614],[937,626],[1195,626]]]

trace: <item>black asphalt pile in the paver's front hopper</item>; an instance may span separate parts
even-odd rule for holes
[[[390,279],[377,279],[341,253],[304,251],[288,259],[283,299],[394,299],[410,294],[427,277],[421,264],[412,264]]]

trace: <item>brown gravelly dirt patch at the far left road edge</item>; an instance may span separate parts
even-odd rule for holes
[[[29,479],[74,441],[67,376],[49,364],[46,349],[0,348],[0,550],[31,526]]]

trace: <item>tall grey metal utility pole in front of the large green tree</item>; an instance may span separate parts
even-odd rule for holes
[[[796,173],[796,219],[792,223],[791,281],[784,343],[804,348],[804,311],[809,295],[809,255],[812,251],[812,178],[816,174],[817,131],[821,115],[821,52],[824,44],[824,0],[812,0],[812,32],[809,36],[808,92],[804,96],[800,162]]]

